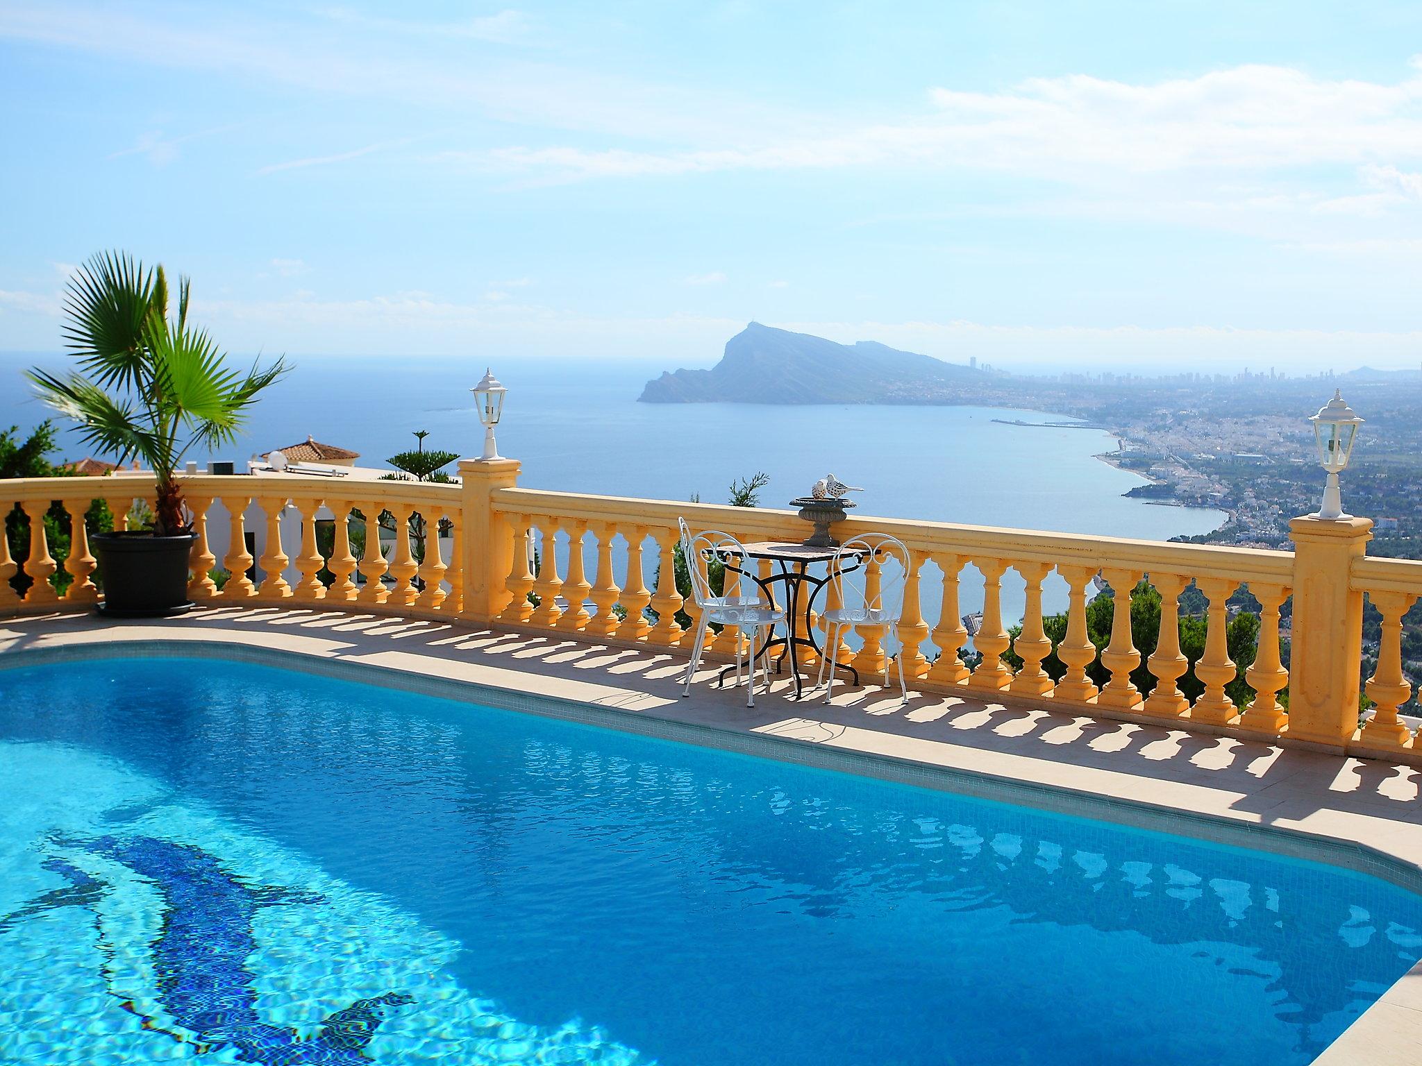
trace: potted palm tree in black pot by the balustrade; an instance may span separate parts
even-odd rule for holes
[[[94,256],[70,279],[64,343],[78,360],[67,375],[31,370],[40,398],[78,424],[81,439],[124,463],[142,459],[158,483],[151,530],[92,537],[107,614],[154,617],[188,610],[192,516],[175,476],[188,449],[236,439],[257,394],[287,372],[283,360],[246,374],[205,330],[188,324],[188,279],[168,313],[162,266]]]

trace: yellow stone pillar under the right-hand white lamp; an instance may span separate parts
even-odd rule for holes
[[[1349,587],[1349,570],[1372,539],[1372,520],[1310,515],[1288,529],[1294,542],[1288,736],[1338,748],[1358,728],[1362,593]]]

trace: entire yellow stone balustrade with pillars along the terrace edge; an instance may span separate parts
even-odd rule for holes
[[[556,628],[617,644],[678,648],[690,645],[675,623],[683,605],[671,566],[678,516],[685,516],[697,529],[734,530],[747,542],[801,540],[806,530],[793,512],[786,510],[522,489],[516,483],[518,469],[513,461],[465,461],[459,465],[462,485],[333,482],[290,473],[256,480],[181,475],[196,533],[189,594],[199,603],[213,605],[242,603],[257,594],[264,601],[290,596],[290,601],[323,600],[361,611]],[[346,492],[346,497],[327,499],[333,489]],[[98,598],[95,578],[101,574],[95,570],[90,530],[84,526],[88,500],[105,500],[122,529],[131,502],[152,497],[152,479],[134,475],[104,479],[87,492],[71,478],[4,482],[0,506],[14,515],[11,520],[28,523],[33,536],[24,559],[13,559],[9,540],[0,537],[0,613],[54,610],[60,603],[85,604]],[[316,547],[316,513],[323,499],[336,520],[326,560]],[[61,502],[71,523],[70,554],[58,561],[43,520],[55,500]],[[264,526],[260,590],[247,577],[253,559],[246,549],[245,512],[253,500],[262,507]],[[282,543],[280,513],[287,500],[300,513],[300,546]],[[209,539],[213,533],[210,509],[215,506],[229,516],[226,554],[220,564],[230,578],[220,591],[212,578],[218,559]],[[360,560],[351,546],[353,507],[365,516],[365,550]],[[387,522],[394,526],[388,560],[381,553],[378,530],[383,512],[392,516]],[[421,559],[415,559],[411,546],[411,515],[419,515],[428,523]],[[448,524],[452,536],[441,540],[441,524]],[[538,574],[529,560],[529,529],[539,530],[542,536]],[[555,547],[560,529],[570,536],[566,580],[560,574]],[[1406,611],[1422,598],[1422,561],[1368,557],[1369,529],[1367,519],[1298,519],[1291,523],[1293,551],[859,515],[836,526],[836,533],[842,537],[889,533],[909,547],[903,615],[894,635],[902,642],[904,674],[912,678],[913,687],[929,692],[1010,692],[1014,699],[1071,706],[1094,715],[1148,716],[1180,722],[1185,728],[1283,736],[1340,752],[1388,753],[1389,758],[1418,760],[1422,758],[1418,741],[1398,712],[1413,692],[1401,658],[1401,634]],[[596,544],[587,543],[589,534]],[[290,529],[287,536],[293,536]],[[619,536],[627,544],[624,570],[620,569],[621,553],[616,549]],[[656,543],[657,553],[651,571],[648,537]],[[287,551],[296,556],[294,570],[300,573],[294,590],[286,588],[283,577],[289,569]],[[594,553],[596,563],[587,560],[589,551]],[[933,576],[931,570],[924,573],[930,561],[939,576]],[[967,644],[961,623],[960,573],[970,563],[984,576],[983,625],[975,640],[983,662],[971,674],[960,654]],[[63,601],[51,583],[61,566],[70,577]],[[323,566],[333,577],[328,588],[321,588],[317,578]],[[589,566],[593,567],[590,580]],[[771,564],[764,563],[758,569],[768,573]],[[869,569],[872,571],[873,566]],[[1003,618],[1001,580],[1008,569],[1022,577],[1027,593],[1021,634],[1012,645],[1022,664],[1015,674],[1003,661],[1011,642],[1005,627],[1015,621]],[[1044,669],[1052,647],[1042,617],[1044,583],[1054,570],[1068,588],[1066,632],[1055,648],[1065,675],[1055,684]],[[20,573],[33,581],[24,597],[16,594],[10,584],[10,578]],[[387,573],[391,578],[388,586],[383,580]],[[1112,635],[1101,652],[1111,679],[1099,694],[1086,674],[1098,655],[1086,631],[1086,603],[1098,573],[1115,590]],[[357,584],[357,574],[363,584]],[[1162,605],[1156,647],[1146,662],[1155,685],[1143,699],[1132,679],[1133,674],[1139,677],[1142,652],[1133,645],[1130,632],[1130,597],[1142,574],[1159,593]],[[875,574],[866,573],[866,578],[873,580]],[[924,610],[924,580],[941,580],[936,613]],[[1204,694],[1193,708],[1180,691],[1189,662],[1179,640],[1179,601],[1192,581],[1209,601],[1206,650],[1194,665],[1194,677],[1203,684]],[[1226,604],[1240,587],[1247,587],[1260,603],[1260,640],[1254,661],[1244,674],[1254,698],[1236,708],[1226,691],[1237,677],[1229,654]],[[538,610],[529,603],[530,591],[540,600]],[[1359,731],[1357,708],[1362,687],[1359,665],[1365,594],[1382,615],[1382,638],[1376,667],[1367,684],[1375,712]],[[781,593],[776,596],[784,600]],[[566,600],[566,610],[560,600]],[[823,604],[816,604],[822,608],[833,605],[829,594]],[[657,614],[656,624],[647,617],[648,608]],[[1280,654],[1284,617],[1291,621],[1288,638],[1293,644],[1287,669]],[[798,618],[796,625],[803,625],[803,621]],[[826,648],[826,654],[880,669],[886,638],[882,627],[865,627],[857,634],[856,655],[850,655],[843,644],[838,650]],[[715,634],[708,651],[711,655],[731,655],[737,640],[734,630]],[[924,641],[937,650],[931,661],[923,654]]]

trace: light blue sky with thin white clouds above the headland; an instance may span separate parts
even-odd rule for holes
[[[0,350],[1422,364],[1422,3],[11,3]]]

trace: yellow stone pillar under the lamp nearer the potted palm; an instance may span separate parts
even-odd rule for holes
[[[455,543],[464,563],[464,608],[459,617],[488,623],[509,600],[513,530],[495,513],[492,496],[519,480],[518,459],[461,459],[464,480]]]

